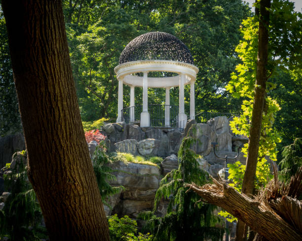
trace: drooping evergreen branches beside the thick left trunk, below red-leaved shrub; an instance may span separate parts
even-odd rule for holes
[[[123,187],[113,187],[108,183],[108,181],[116,180],[116,178],[111,174],[113,169],[107,165],[110,162],[110,158],[106,153],[106,146],[103,141],[100,142],[100,145],[97,146],[93,153],[92,162],[102,200],[106,203],[105,198],[107,196],[118,193]]]

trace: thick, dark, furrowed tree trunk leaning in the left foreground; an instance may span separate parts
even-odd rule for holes
[[[61,0],[2,0],[28,151],[51,240],[109,240],[81,124]]]

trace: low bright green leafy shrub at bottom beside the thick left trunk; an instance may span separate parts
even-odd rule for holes
[[[137,222],[127,215],[118,218],[117,214],[107,217],[111,241],[150,241],[152,235],[137,233]]]

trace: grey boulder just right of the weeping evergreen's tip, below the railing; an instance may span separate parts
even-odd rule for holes
[[[206,156],[212,151],[211,142],[216,141],[216,133],[210,125],[204,123],[193,124],[189,129],[189,136],[196,139],[192,150],[197,154]]]

